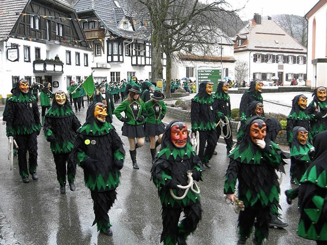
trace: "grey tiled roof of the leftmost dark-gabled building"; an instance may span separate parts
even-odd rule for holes
[[[0,41],[6,40],[10,35],[15,23],[21,13],[31,0],[0,0]],[[47,0],[50,4],[53,3],[66,10],[74,12],[71,5],[66,0]]]

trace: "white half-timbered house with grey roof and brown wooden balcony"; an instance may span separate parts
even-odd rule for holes
[[[133,9],[127,1],[78,0],[74,8],[93,50],[92,70],[97,82],[120,82],[132,76],[151,81],[147,21],[135,21],[136,16],[133,16]],[[163,59],[164,65],[165,62]]]

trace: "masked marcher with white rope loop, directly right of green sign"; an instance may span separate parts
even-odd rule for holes
[[[214,94],[214,112],[216,116],[217,129],[217,140],[220,135],[223,134],[226,142],[227,154],[233,146],[233,137],[230,124],[230,100],[228,94],[228,83],[220,82],[217,87],[217,91]]]

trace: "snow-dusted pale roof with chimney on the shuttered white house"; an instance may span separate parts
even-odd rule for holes
[[[273,20],[261,20],[257,24],[254,19],[237,35],[237,39],[244,39],[241,46],[234,46],[234,52],[267,51],[307,53],[307,48],[299,44],[284,29]]]

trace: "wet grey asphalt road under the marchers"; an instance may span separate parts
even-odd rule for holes
[[[86,108],[77,113],[83,123]],[[122,123],[114,118],[113,124],[121,135]],[[14,170],[9,170],[8,140],[5,126],[0,126],[0,244],[159,244],[161,233],[161,205],[156,187],[150,181],[151,155],[149,142],[137,150],[139,170],[132,168],[127,138],[122,136],[127,152],[122,169],[118,199],[109,211],[113,236],[107,237],[91,227],[94,220],[92,200],[83,182],[80,167],[76,175],[76,191],[60,194],[50,143],[44,135],[38,136],[38,181],[24,184],[18,173],[17,159]],[[159,149],[159,148],[158,148]],[[201,190],[202,220],[188,244],[236,244],[237,217],[231,205],[224,203],[223,183],[228,165],[225,145],[218,143],[211,169],[204,172]],[[291,187],[287,175],[281,185],[281,206],[285,229],[270,229],[265,244],[315,244],[296,235],[298,211],[296,204],[286,203],[284,191]],[[296,203],[296,202],[295,202]],[[247,244],[252,244],[248,239]]]

